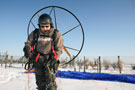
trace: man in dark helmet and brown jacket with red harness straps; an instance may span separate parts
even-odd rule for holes
[[[64,48],[62,35],[54,30],[52,19],[48,14],[39,17],[38,26],[39,29],[33,31],[25,43],[23,49],[25,57],[31,57],[30,59],[34,61],[38,90],[57,90],[55,73]]]

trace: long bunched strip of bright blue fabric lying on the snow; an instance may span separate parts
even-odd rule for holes
[[[135,83],[135,75],[129,74],[124,75],[124,74],[108,74],[108,73],[88,73],[88,72],[58,70],[56,76],[61,78],[80,79],[80,80],[104,80],[104,81]]]

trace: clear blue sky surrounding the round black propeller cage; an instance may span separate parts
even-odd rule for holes
[[[81,21],[80,56],[135,56],[135,0],[1,0],[0,52],[22,56],[31,16],[50,5],[70,10]]]

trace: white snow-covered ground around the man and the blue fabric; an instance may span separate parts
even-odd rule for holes
[[[128,67],[124,67],[125,74],[135,74]],[[0,90],[36,90],[34,73],[25,74],[21,65],[13,65],[6,69],[0,67]],[[107,71],[104,71],[104,73]],[[109,73],[118,73],[111,70]],[[58,90],[135,90],[135,84],[98,81],[98,80],[75,80],[57,78]]]

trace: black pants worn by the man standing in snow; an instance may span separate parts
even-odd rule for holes
[[[38,90],[57,90],[55,74],[51,72],[51,67],[47,67],[47,58],[39,57],[35,63],[36,84]]]

